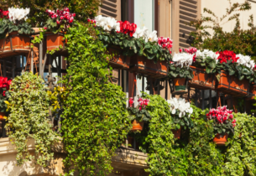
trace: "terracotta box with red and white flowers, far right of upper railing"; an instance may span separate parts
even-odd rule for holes
[[[249,56],[232,51],[219,52],[216,89],[233,96],[246,96],[249,82],[255,78],[254,61]]]

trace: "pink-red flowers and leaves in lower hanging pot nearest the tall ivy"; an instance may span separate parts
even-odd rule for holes
[[[146,110],[146,106],[149,104],[149,99],[144,99],[138,96],[138,106],[133,107],[133,98],[129,99],[128,119],[130,121],[136,120],[138,122],[148,122],[151,118],[149,112]]]

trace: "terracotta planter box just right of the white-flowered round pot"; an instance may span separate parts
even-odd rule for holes
[[[200,90],[214,90],[216,84],[216,77],[213,74],[206,74],[205,69],[191,66],[193,70],[193,79],[189,81],[189,86]]]

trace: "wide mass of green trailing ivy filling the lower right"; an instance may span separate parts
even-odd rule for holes
[[[206,112],[194,105],[191,119],[194,127],[182,130],[174,140],[175,128],[170,108],[160,96],[149,98],[147,110],[152,119],[141,133],[132,133],[139,148],[148,153],[150,175],[255,175],[256,122],[253,116],[235,114],[237,126],[229,135],[226,147],[212,142],[214,122],[207,121]]]

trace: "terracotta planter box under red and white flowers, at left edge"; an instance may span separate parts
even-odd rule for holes
[[[26,34],[13,32],[5,39],[0,39],[0,56],[8,57],[18,54],[29,53],[31,37]]]

